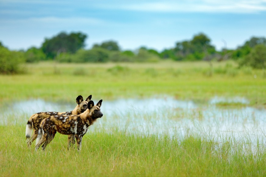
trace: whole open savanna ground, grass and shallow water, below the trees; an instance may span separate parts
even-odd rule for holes
[[[23,68],[0,75],[0,176],[266,175],[264,70],[229,61]],[[35,141],[28,148],[29,117],[70,111],[78,95],[103,99],[104,116],[83,137],[82,150],[67,150],[59,133],[44,152],[34,151]]]

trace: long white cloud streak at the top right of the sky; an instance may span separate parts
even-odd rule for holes
[[[189,1],[160,1],[106,6],[106,8],[146,11],[146,12],[211,12],[211,13],[257,13],[266,11],[265,0],[189,0]]]

